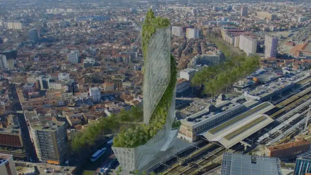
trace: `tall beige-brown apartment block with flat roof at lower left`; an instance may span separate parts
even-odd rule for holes
[[[63,164],[67,154],[66,123],[36,120],[30,123],[37,157],[42,163]]]

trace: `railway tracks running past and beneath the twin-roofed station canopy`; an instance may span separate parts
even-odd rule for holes
[[[162,165],[153,168],[152,171],[162,172],[165,175],[207,174],[207,172],[221,165],[224,152],[247,154],[252,150],[258,149],[258,147],[290,141],[309,125],[310,81],[310,77],[299,80],[295,82],[296,86],[290,90],[291,92],[283,97],[278,94],[280,97],[274,102],[271,101],[274,108],[265,113],[274,121],[247,137],[247,139],[242,140],[241,144],[226,148],[219,142],[209,141],[202,137],[191,153],[185,155],[184,151],[182,151],[167,162],[162,163]],[[245,145],[250,147],[244,149],[246,148]]]

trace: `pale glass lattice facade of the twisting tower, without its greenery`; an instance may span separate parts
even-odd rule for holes
[[[145,60],[144,73],[144,123],[149,124],[151,116],[168,88],[170,70],[170,29],[159,28],[151,36],[148,44],[148,52]],[[171,104],[162,130],[152,137],[146,144],[136,148],[112,147],[114,154],[123,169],[141,170],[151,164],[158,162],[156,155],[161,151],[168,151],[177,138],[178,129],[172,129],[175,116],[176,87],[172,93]],[[177,152],[169,150],[168,154]],[[174,152],[174,153],[173,153]]]

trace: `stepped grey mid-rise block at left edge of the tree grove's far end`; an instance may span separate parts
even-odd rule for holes
[[[204,54],[193,57],[193,59],[191,59],[191,61],[188,63],[188,68],[198,70],[204,65],[219,65],[223,61],[225,61],[225,55],[221,51],[217,51],[211,54]]]

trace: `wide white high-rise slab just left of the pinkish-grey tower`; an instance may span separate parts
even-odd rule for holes
[[[247,55],[255,54],[257,50],[257,40],[251,36],[240,35],[239,48]]]

